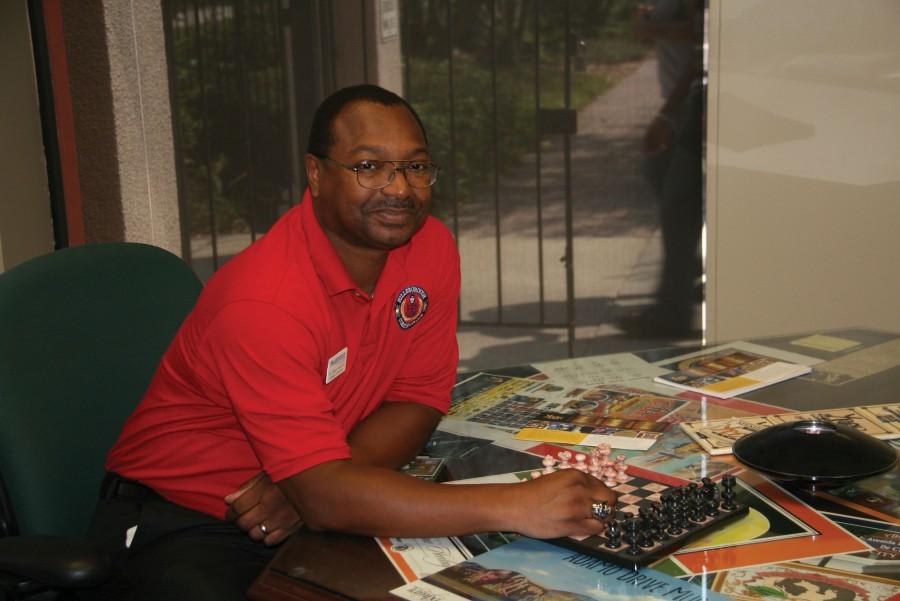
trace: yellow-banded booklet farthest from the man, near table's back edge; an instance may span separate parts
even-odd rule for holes
[[[672,371],[655,377],[654,382],[723,399],[812,371],[806,365],[779,361],[735,348],[682,359],[662,367]]]

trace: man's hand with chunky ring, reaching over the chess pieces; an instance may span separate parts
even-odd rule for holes
[[[606,521],[591,513],[594,503],[616,506],[616,493],[591,475],[560,470],[514,485],[518,490],[509,508],[516,532],[534,538],[602,534]]]

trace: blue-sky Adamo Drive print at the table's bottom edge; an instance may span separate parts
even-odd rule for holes
[[[411,601],[725,601],[650,568],[634,571],[523,538],[391,591]]]

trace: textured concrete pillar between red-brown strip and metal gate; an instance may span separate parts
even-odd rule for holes
[[[159,3],[63,3],[88,242],[181,253]]]

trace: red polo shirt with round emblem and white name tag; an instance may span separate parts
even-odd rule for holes
[[[307,192],[209,280],[106,469],[222,517],[260,470],[278,481],[349,458],[347,434],[386,400],[446,412],[458,297],[459,255],[436,219],[390,251],[370,297]]]

